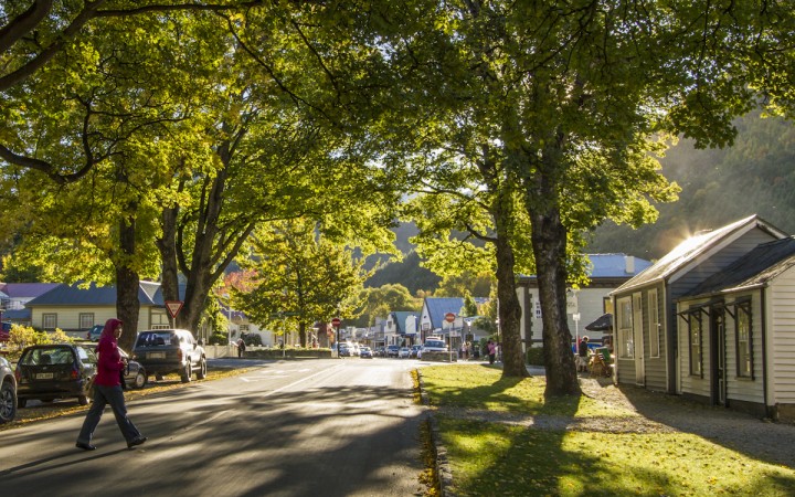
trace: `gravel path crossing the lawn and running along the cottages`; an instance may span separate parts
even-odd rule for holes
[[[795,424],[773,423],[724,408],[709,406],[678,395],[613,385],[610,379],[583,376],[583,393],[638,415],[604,417],[530,416],[480,410],[441,408],[439,414],[537,430],[603,433],[692,433],[719,445],[772,464],[795,468]]]

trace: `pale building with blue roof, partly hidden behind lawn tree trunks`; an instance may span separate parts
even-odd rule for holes
[[[649,261],[626,254],[587,254],[587,257],[591,261],[590,283],[577,289],[570,289],[566,295],[566,318],[572,337],[584,335],[585,325],[612,313],[611,292],[651,266]],[[526,348],[540,346],[543,342],[543,324],[536,275],[519,276],[517,296],[522,308],[522,342]],[[605,334],[597,331],[587,335],[593,341],[602,339]]]

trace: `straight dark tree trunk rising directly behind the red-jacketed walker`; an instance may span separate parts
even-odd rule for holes
[[[124,332],[119,338],[119,347],[132,350],[138,330],[140,300],[138,290],[140,278],[138,273],[129,268],[129,261],[136,251],[135,220],[119,221],[119,248],[114,254],[116,264],[116,315],[124,322]]]

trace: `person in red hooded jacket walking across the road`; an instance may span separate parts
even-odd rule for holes
[[[147,441],[138,429],[127,417],[127,406],[125,405],[124,392],[121,391],[121,373],[126,367],[121,355],[118,350],[118,338],[121,336],[121,321],[118,319],[108,319],[105,322],[99,343],[97,345],[97,376],[94,379],[94,402],[88,409],[83,427],[77,435],[75,446],[84,451],[94,451],[96,446],[92,445],[94,430],[102,419],[105,405],[110,404],[116,424],[118,424],[121,435],[127,441],[127,447],[132,448]]]

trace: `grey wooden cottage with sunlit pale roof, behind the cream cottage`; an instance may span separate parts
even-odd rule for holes
[[[679,327],[695,320],[677,317],[677,302],[759,245],[785,237],[752,215],[683,241],[613,292],[615,380],[681,393],[690,380],[680,373],[679,361],[687,357],[680,347],[690,331]]]

